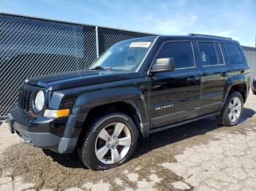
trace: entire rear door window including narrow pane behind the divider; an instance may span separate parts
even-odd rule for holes
[[[217,42],[198,42],[203,66],[224,64],[222,50]]]

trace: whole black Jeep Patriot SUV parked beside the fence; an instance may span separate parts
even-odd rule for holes
[[[8,114],[26,144],[102,170],[125,163],[139,136],[220,116],[236,125],[250,69],[229,38],[189,34],[118,42],[87,71],[31,77]]]

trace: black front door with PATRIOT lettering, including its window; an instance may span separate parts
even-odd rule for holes
[[[175,71],[157,72],[150,77],[151,128],[197,117],[200,70],[195,64],[192,42],[165,42],[157,58],[174,58]]]

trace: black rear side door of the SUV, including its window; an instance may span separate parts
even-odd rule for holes
[[[223,91],[230,69],[217,41],[197,41],[202,65],[202,95],[200,115],[222,109]]]

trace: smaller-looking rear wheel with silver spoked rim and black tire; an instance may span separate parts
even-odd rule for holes
[[[244,111],[244,99],[241,93],[231,93],[222,109],[222,125],[237,125]]]

